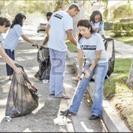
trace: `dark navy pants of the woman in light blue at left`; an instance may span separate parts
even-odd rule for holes
[[[11,59],[15,60],[14,50],[11,51],[10,49],[5,49],[5,52]],[[8,76],[13,74],[13,69],[8,64],[6,64],[6,71]]]

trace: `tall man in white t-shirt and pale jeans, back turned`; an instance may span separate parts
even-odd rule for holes
[[[77,41],[72,34],[72,17],[76,16],[79,11],[77,4],[71,4],[67,11],[54,12],[47,27],[51,61],[49,91],[50,95],[54,95],[56,98],[68,98],[63,94],[63,73],[67,52],[65,40],[68,38],[73,44],[77,45]]]

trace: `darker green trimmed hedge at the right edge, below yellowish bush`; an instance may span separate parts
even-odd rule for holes
[[[119,36],[133,36],[133,22],[132,23],[114,23],[113,32],[115,37]]]

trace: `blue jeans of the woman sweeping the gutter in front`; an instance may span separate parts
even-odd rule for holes
[[[84,92],[88,87],[90,79],[95,74],[95,92],[93,97],[91,114],[96,116],[102,115],[103,88],[104,88],[104,79],[107,70],[108,70],[108,63],[98,64],[88,78],[79,81],[80,83],[77,86],[78,88],[75,90],[74,98],[69,108],[70,112],[73,113],[78,112]]]

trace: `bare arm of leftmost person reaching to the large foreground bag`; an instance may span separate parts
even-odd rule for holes
[[[5,53],[4,49],[0,46],[0,55],[2,59],[10,65],[16,73],[20,73],[21,69],[17,68],[14,61]]]

